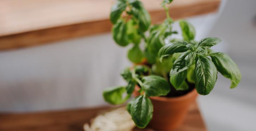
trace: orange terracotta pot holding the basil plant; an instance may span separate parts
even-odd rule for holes
[[[139,87],[136,85],[134,96],[140,95]],[[169,131],[179,127],[187,114],[188,108],[197,97],[196,89],[184,96],[179,97],[150,97],[154,106],[153,118],[149,127],[160,131]]]

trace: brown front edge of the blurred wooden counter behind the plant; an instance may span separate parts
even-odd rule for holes
[[[221,0],[202,2],[196,5],[171,8],[169,13],[174,19],[215,13],[218,11]],[[149,11],[152,23],[158,23],[165,19],[164,10]],[[53,28],[32,30],[17,34],[0,36],[0,50],[18,49],[52,43],[77,37],[107,33],[111,30],[109,19],[96,21],[85,21],[72,25],[65,25]]]

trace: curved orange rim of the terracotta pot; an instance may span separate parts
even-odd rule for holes
[[[182,101],[184,99],[196,96],[197,90],[194,88],[192,91],[188,92],[186,95],[178,96],[178,97],[160,97],[160,96],[151,96],[150,99],[156,100],[156,101],[168,101],[168,102],[174,102],[174,101]]]

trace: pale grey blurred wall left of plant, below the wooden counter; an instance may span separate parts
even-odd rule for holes
[[[0,111],[98,106],[122,84],[126,49],[110,34],[0,53]]]

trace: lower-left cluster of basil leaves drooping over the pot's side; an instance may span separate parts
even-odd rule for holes
[[[135,66],[126,68],[121,76],[127,81],[127,86],[105,89],[103,97],[111,104],[124,103],[134,91],[135,85],[139,85],[140,96],[133,98],[127,105],[127,110],[139,128],[144,128],[152,119],[153,105],[150,96],[164,96],[170,91],[170,85],[165,78],[152,75],[147,66]],[[124,95],[126,94],[126,95]]]

